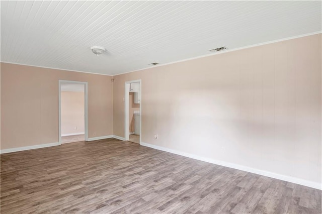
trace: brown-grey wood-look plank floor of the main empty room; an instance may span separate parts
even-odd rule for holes
[[[1,154],[1,213],[321,213],[321,190],[116,139]]]

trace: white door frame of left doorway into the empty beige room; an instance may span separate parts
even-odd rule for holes
[[[88,82],[79,82],[71,80],[58,80],[58,135],[59,145],[61,145],[61,83],[83,84],[84,85],[84,110],[85,110],[85,141],[88,141]]]

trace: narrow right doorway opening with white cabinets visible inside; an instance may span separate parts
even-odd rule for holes
[[[124,136],[126,141],[141,143],[141,80],[125,82]]]

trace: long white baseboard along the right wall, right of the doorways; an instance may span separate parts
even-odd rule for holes
[[[254,168],[251,168],[251,167],[248,167],[248,166],[229,163],[229,162],[226,162],[226,161],[220,161],[220,160],[215,160],[215,159],[212,159],[212,158],[206,158],[206,157],[202,157],[202,156],[198,156],[198,155],[194,155],[194,154],[190,154],[190,153],[186,153],[186,152],[181,152],[181,151],[174,150],[174,149],[169,149],[169,148],[166,148],[166,147],[156,146],[156,145],[152,145],[152,144],[148,144],[148,143],[141,142],[140,145],[150,147],[152,149],[157,149],[157,150],[161,150],[161,151],[170,152],[170,153],[173,153],[173,154],[185,156],[185,157],[188,157],[188,158],[193,158],[193,159],[196,159],[196,160],[201,160],[201,161],[208,162],[208,163],[217,164],[217,165],[220,165],[220,166],[225,166],[225,167],[238,169],[238,170],[242,170],[242,171],[246,171],[246,172],[251,172],[251,173],[255,173],[255,174],[259,174],[259,175],[263,175],[263,176],[267,176],[267,177],[271,177],[271,178],[276,178],[276,179],[279,179],[279,180],[284,180],[284,181],[291,182],[291,183],[300,184],[300,185],[303,185],[303,186],[312,187],[312,188],[315,188],[315,189],[322,189],[322,184],[318,183],[318,182],[304,180],[304,179],[301,179],[301,178],[291,177],[291,176],[287,176],[287,175],[281,175],[281,174],[277,174],[277,173],[269,172],[269,171],[265,171],[265,170],[254,169]]]

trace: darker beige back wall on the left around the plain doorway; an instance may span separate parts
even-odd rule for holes
[[[112,76],[1,63],[1,149],[58,142],[58,80],[88,82],[89,138],[113,134]]]

